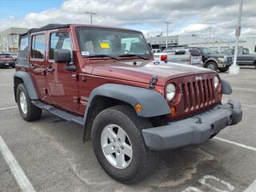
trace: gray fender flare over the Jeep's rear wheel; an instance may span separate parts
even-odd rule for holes
[[[16,71],[16,72],[14,72],[14,79],[15,78],[22,79],[22,81],[24,82],[24,86],[26,87],[26,90],[30,96],[30,99],[32,99],[32,100],[38,99],[38,94],[37,94],[36,90],[34,89],[34,84],[30,78],[30,74],[26,73],[25,71]],[[14,87],[14,89],[15,89],[15,87]]]

